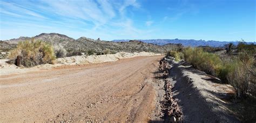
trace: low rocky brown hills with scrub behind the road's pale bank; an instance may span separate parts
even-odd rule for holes
[[[19,37],[17,39],[4,40],[2,43],[8,43],[10,45],[15,45],[18,42],[23,42],[24,40],[30,40],[34,38],[35,40],[42,40],[43,42],[48,42],[53,45],[62,45],[67,51],[80,51],[87,52],[93,50],[95,52],[103,52],[105,49],[110,49],[111,51],[124,51],[124,52],[155,52],[164,53],[168,50],[181,49],[183,45],[181,44],[166,44],[163,46],[144,43],[138,40],[130,40],[129,42],[111,42],[105,40],[94,40],[86,37],[80,37],[78,39],[73,39],[65,35],[58,33],[42,33],[35,37]],[[2,47],[0,47],[1,49]]]

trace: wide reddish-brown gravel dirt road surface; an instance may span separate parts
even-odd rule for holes
[[[0,120],[148,121],[161,56],[0,76]]]

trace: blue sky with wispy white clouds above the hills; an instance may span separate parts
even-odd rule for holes
[[[0,40],[72,38],[256,41],[255,0],[0,0]]]

